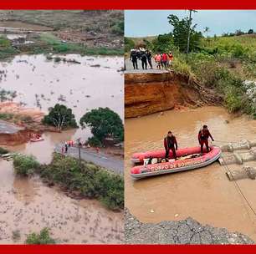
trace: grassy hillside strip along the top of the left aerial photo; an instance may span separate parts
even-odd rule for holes
[[[94,31],[107,35],[123,35],[119,29],[123,23],[123,11],[83,11],[83,10],[47,10],[16,11],[1,10],[0,20],[15,20],[25,23],[44,25],[58,29],[72,28],[82,31]]]

